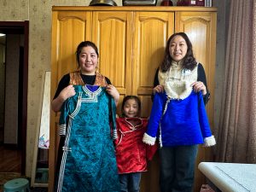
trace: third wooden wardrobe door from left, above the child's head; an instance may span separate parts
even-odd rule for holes
[[[134,25],[131,94],[140,97],[142,116],[148,117],[154,74],[164,58],[167,39],[174,32],[174,12],[137,11]]]

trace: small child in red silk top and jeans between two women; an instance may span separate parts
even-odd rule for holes
[[[147,160],[152,160],[156,145],[143,143],[148,119],[139,117],[141,102],[137,96],[125,96],[122,103],[123,117],[117,118],[118,139],[116,160],[121,192],[138,192],[142,172],[147,171]]]

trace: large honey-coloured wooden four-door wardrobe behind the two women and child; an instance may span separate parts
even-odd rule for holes
[[[211,100],[207,114],[213,127],[214,71],[217,9],[204,7],[53,7],[51,46],[51,98],[61,77],[75,69],[78,44],[90,40],[99,49],[99,72],[111,80],[120,93],[137,95],[142,116],[148,117],[152,102],[154,73],[164,56],[167,39],[174,32],[186,32],[195,58],[207,74]],[[120,113],[120,103],[118,113]],[[50,115],[49,191],[53,191],[58,145],[59,113]],[[210,161],[210,148],[199,149],[197,164]],[[195,192],[204,177],[195,171]],[[141,192],[159,192],[159,158],[155,155],[143,173]]]

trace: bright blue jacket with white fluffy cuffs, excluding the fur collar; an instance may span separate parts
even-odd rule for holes
[[[143,142],[153,145],[156,137],[160,147],[214,145],[201,92],[192,91],[183,100],[168,99],[166,92],[156,93]]]

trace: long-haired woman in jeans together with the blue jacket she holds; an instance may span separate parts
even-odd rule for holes
[[[191,192],[198,144],[214,145],[205,104],[210,98],[201,63],[184,32],[167,41],[154,79],[154,102],[143,142],[160,141],[161,192]]]

